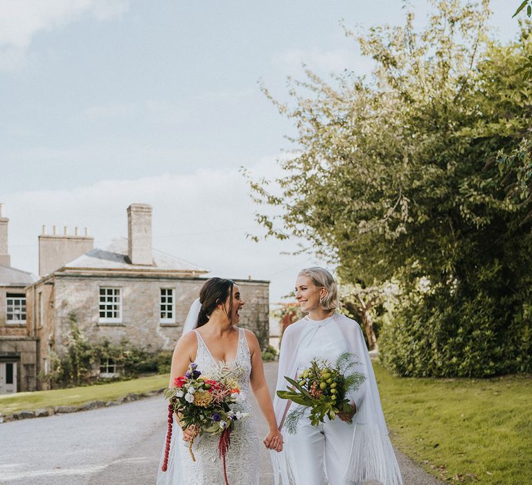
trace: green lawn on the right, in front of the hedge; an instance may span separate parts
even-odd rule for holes
[[[405,455],[450,482],[532,484],[532,376],[397,378],[374,367]]]

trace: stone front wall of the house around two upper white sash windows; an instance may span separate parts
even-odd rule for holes
[[[206,278],[155,276],[54,276],[55,349],[60,352],[67,342],[70,315],[92,341],[107,338],[113,342],[127,339],[134,345],[154,351],[172,350],[181,336],[190,304],[199,294]],[[237,281],[245,306],[240,312],[240,326],[256,333],[266,346],[269,333],[267,281]],[[104,323],[99,318],[100,287],[121,288],[122,320]],[[175,288],[175,323],[159,319],[161,288]]]

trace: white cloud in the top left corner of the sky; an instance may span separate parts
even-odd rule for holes
[[[129,0],[0,0],[0,69],[24,65],[33,36],[89,14],[100,21],[122,15]]]

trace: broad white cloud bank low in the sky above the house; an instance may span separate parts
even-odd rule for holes
[[[281,175],[268,157],[251,168],[257,177]],[[80,172],[81,174],[81,172]],[[80,175],[82,177],[82,175]],[[1,201],[10,218],[12,265],[37,273],[37,236],[42,224],[89,227],[96,246],[127,236],[126,208],[133,202],[153,207],[153,245],[192,261],[211,274],[230,278],[270,279],[271,301],[290,292],[298,269],[315,263],[310,256],[287,256],[296,242],[266,240],[254,243],[246,233],[261,233],[256,206],[238,170],[197,170],[191,175],[167,174],[134,180],[104,180],[93,185],[57,191],[24,191]]]

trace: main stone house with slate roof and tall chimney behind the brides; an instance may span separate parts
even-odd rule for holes
[[[35,382],[20,389],[46,389],[43,377],[53,353],[64,352],[70,321],[92,342],[128,340],[152,351],[172,350],[181,336],[188,308],[209,272],[152,248],[152,208],[127,208],[127,238],[94,248],[87,235],[42,233],[39,280],[26,287],[27,328],[35,340]],[[231,276],[231,275],[229,275]],[[235,279],[246,305],[240,325],[253,330],[261,345],[269,334],[269,282]],[[28,337],[30,335],[28,334]],[[100,376],[119,372],[99,362]]]

